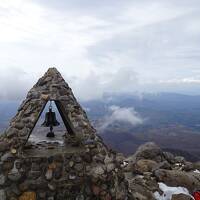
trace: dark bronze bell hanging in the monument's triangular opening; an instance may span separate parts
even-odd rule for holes
[[[47,133],[47,137],[55,137],[53,132],[53,126],[59,126],[60,123],[56,119],[56,113],[52,112],[52,105],[50,101],[49,112],[45,114],[45,120],[42,123],[42,126],[50,127],[50,132]]]

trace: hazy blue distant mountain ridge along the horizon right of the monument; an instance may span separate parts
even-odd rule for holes
[[[200,128],[200,96],[176,93],[112,94],[82,104],[87,108],[91,120],[105,116],[109,106],[116,105],[134,107],[142,117],[148,118],[145,125],[181,124],[197,130]]]

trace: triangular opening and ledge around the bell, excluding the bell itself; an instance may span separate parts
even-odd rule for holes
[[[60,126],[54,127],[55,137],[46,137],[49,127],[43,127],[41,124],[44,122],[45,113],[48,109],[49,102],[46,102],[23,146],[23,155],[25,157],[49,157],[84,151],[84,147],[80,146],[77,141],[66,108],[60,101],[53,101],[52,104],[52,111],[56,113]]]

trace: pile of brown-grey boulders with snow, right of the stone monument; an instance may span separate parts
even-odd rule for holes
[[[200,189],[200,162],[191,163],[183,157],[175,157],[154,143],[140,146],[124,162],[124,173],[133,199],[189,200],[192,199],[190,195]],[[175,190],[182,187],[182,194],[172,192],[167,197],[161,190],[162,184]]]

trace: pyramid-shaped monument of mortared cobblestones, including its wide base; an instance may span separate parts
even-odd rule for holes
[[[27,148],[50,100],[60,112],[68,143]],[[0,136],[0,199],[129,199],[123,159],[104,145],[61,74],[50,68]]]

